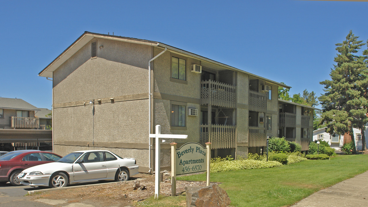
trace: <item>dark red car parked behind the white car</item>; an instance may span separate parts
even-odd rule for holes
[[[61,158],[52,152],[39,150],[15,150],[0,157],[0,185],[10,181],[11,185],[22,185],[17,175],[24,169],[55,162]]]

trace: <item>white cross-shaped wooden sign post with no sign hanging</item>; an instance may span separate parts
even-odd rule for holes
[[[160,195],[160,138],[176,138],[176,139],[186,139],[188,135],[186,134],[161,134],[161,126],[156,125],[156,134],[149,134],[149,137],[156,138],[156,153],[155,153],[155,199]]]

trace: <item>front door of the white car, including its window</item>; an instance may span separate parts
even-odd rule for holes
[[[86,152],[73,164],[74,180],[103,179],[107,177],[106,162],[101,151]]]

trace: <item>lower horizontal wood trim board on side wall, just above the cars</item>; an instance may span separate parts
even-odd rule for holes
[[[83,147],[110,147],[110,148],[128,148],[148,150],[148,143],[115,143],[115,142],[97,142],[94,145],[92,141],[54,141],[56,145],[71,145]]]

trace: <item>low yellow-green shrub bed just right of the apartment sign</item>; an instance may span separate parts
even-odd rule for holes
[[[236,171],[243,169],[255,169],[255,168],[273,168],[280,167],[282,164],[276,161],[260,161],[254,159],[244,159],[244,160],[225,160],[221,162],[212,162],[210,164],[211,172],[226,172],[226,171]]]

